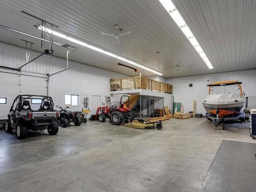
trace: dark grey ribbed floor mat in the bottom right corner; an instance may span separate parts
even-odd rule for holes
[[[223,140],[200,191],[256,191],[256,144]]]

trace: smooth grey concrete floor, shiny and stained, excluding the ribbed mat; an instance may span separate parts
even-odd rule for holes
[[[0,131],[1,191],[198,191],[223,139],[254,142],[248,123],[170,119],[162,130],[88,121],[26,140]]]

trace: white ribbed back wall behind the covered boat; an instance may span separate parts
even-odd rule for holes
[[[193,111],[193,100],[197,100],[196,113],[205,114],[202,101],[208,94],[206,85],[222,80],[242,81],[242,88],[246,96],[256,96],[256,70],[169,78],[167,83],[173,85],[174,102],[182,102],[185,112]],[[189,88],[188,83],[193,83],[193,87]]]

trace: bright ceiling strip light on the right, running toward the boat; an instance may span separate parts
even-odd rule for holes
[[[181,14],[173,4],[171,0],[159,0],[159,2],[163,5],[163,7],[166,9],[166,11],[169,13],[169,15],[174,19],[175,23],[179,26],[181,31],[184,33],[184,35],[188,38],[190,43],[193,45],[193,47],[196,49],[198,54],[202,57],[205,64],[209,69],[214,69],[212,67],[209,59],[205,55],[203,49],[199,45],[196,37],[193,35],[193,33],[188,28],[187,24],[185,23],[184,19],[182,18]]]

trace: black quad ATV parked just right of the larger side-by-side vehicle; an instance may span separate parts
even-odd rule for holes
[[[59,117],[57,120],[60,122],[61,127],[67,127],[71,121],[74,122],[76,126],[81,125],[80,112],[72,112],[66,110],[70,109],[69,106],[67,106],[65,109],[62,109],[60,106],[59,109]]]

